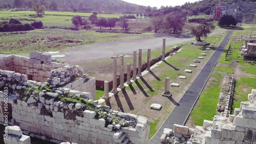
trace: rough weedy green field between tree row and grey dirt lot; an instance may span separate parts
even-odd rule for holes
[[[26,34],[0,36],[0,51],[2,53],[23,54],[30,51],[65,51],[66,40],[82,41],[81,44],[90,44],[91,41],[104,42],[116,40],[124,36],[144,36],[145,34],[122,34],[122,33],[97,33],[95,31],[71,31],[64,29],[37,29],[28,31]],[[42,40],[54,39],[48,44],[42,44]]]

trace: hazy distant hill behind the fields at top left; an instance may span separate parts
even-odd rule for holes
[[[31,8],[33,1],[35,0],[0,0],[0,8]],[[78,11],[132,13],[145,12],[148,8],[121,0],[39,0],[39,2],[45,5],[47,10],[72,11],[75,8]]]

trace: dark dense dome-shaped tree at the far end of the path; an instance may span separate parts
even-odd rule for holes
[[[232,15],[222,15],[218,21],[218,26],[228,27],[228,26],[237,26],[237,20]]]

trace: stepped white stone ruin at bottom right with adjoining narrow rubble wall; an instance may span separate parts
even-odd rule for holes
[[[225,77],[213,121],[204,120],[203,127],[195,129],[176,124],[174,130],[165,128],[160,143],[256,143],[256,89],[248,94],[248,102],[241,102],[230,114],[233,86],[233,77]]]

